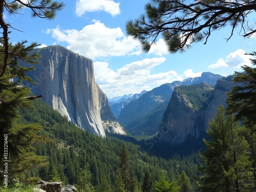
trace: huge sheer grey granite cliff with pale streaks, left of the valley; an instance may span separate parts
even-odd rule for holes
[[[32,92],[42,94],[43,100],[77,126],[104,137],[93,61],[61,46],[35,51],[41,58],[28,73],[37,82]]]

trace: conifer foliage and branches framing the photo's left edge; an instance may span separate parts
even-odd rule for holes
[[[9,31],[11,25],[5,22],[5,14],[19,14],[28,7],[32,16],[52,19],[56,11],[61,10],[63,3],[42,1],[1,1],[0,2],[0,161],[9,160],[8,177],[12,178],[25,170],[45,166],[46,158],[36,156],[33,144],[48,141],[44,135],[36,135],[41,126],[38,124],[18,123],[18,109],[31,108],[31,103],[26,99],[30,90],[22,86],[22,81],[33,83],[26,72],[33,70],[33,67],[25,68],[19,66],[20,60],[35,64],[39,55],[32,53],[38,46],[35,42],[26,46],[27,41],[17,42],[12,45],[9,42]],[[13,29],[13,28],[12,28]],[[5,144],[5,145],[4,145]],[[1,173],[3,173],[1,167]],[[0,176],[3,177],[2,174]]]

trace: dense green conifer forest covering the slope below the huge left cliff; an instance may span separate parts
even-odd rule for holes
[[[129,153],[129,177],[132,183],[137,183],[141,189],[145,173],[152,178],[152,187],[164,174],[166,182],[179,181],[183,171],[191,179],[191,186],[195,188],[193,177],[199,174],[196,164],[199,163],[198,154],[180,157],[178,154],[166,160],[155,155],[148,155],[141,150],[140,145],[123,141],[113,136],[101,138],[81,130],[67,118],[60,116],[42,100],[33,101],[35,109],[20,111],[22,120],[19,123],[38,123],[43,129],[40,135],[48,134],[52,143],[35,145],[36,155],[46,156],[48,164],[39,169],[29,170],[24,178],[37,177],[46,181],[61,181],[63,184],[79,185],[80,169],[85,163],[89,165],[91,184],[96,191],[102,188],[103,180],[109,184],[110,191],[116,187],[116,179],[120,166],[122,147]],[[86,159],[86,162],[84,162]],[[179,184],[177,183],[177,186]],[[134,190],[133,186],[131,190]],[[130,190],[130,189],[129,189]],[[191,189],[194,191],[194,189]]]

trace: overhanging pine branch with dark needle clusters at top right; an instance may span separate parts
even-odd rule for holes
[[[145,5],[145,13],[126,23],[127,34],[141,42],[148,52],[160,34],[170,53],[183,52],[193,43],[207,39],[213,31],[231,26],[230,36],[240,26],[240,34],[251,36],[255,31],[254,20],[246,17],[256,9],[255,1],[223,0],[152,0]]]

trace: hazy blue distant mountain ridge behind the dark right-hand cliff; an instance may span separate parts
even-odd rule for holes
[[[217,79],[222,77],[218,74],[204,72],[200,77],[162,84],[125,105],[117,120],[132,135],[154,135],[161,126],[163,114],[176,87],[201,82],[214,87]]]

